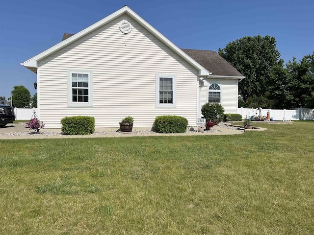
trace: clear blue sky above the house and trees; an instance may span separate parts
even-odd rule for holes
[[[33,95],[36,74],[21,62],[128,5],[180,48],[215,50],[270,35],[285,63],[314,51],[313,0],[0,0],[0,96]]]

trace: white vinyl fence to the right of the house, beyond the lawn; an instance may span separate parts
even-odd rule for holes
[[[314,109],[262,109],[262,116],[267,116],[267,112],[270,114],[270,118],[273,120],[314,120]],[[248,118],[251,116],[259,116],[260,111],[254,108],[238,108],[237,114],[242,115],[242,118]]]

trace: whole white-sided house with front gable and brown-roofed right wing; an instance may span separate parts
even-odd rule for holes
[[[196,125],[206,102],[236,113],[243,75],[215,51],[180,49],[128,6],[22,63],[37,74],[38,116],[46,128],[92,116],[96,128],[151,129],[160,115]]]

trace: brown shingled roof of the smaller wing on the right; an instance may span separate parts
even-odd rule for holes
[[[232,76],[244,78],[244,76],[230,65],[214,50],[181,49],[197,63],[211,72],[210,76]]]

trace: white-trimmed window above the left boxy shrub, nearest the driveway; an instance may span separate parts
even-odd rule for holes
[[[92,106],[93,73],[86,70],[68,70],[68,106]]]

